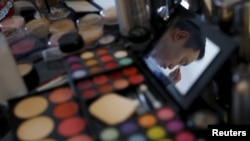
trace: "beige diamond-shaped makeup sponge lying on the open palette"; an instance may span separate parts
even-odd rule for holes
[[[108,93],[93,102],[90,113],[108,125],[127,120],[136,110],[137,103],[115,93]]]

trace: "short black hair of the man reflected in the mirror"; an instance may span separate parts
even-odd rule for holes
[[[180,30],[189,32],[190,36],[185,47],[192,48],[194,51],[200,51],[197,60],[202,59],[205,54],[206,38],[200,27],[189,19],[178,19],[174,23],[173,28],[179,28]]]

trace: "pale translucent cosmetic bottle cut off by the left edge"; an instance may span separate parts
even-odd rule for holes
[[[27,94],[27,88],[2,33],[0,33],[0,44],[0,104],[7,105],[7,100]]]

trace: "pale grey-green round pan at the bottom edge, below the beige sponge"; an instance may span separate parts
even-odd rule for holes
[[[102,141],[114,141],[120,136],[119,131],[116,128],[106,128],[100,134],[100,139]]]

